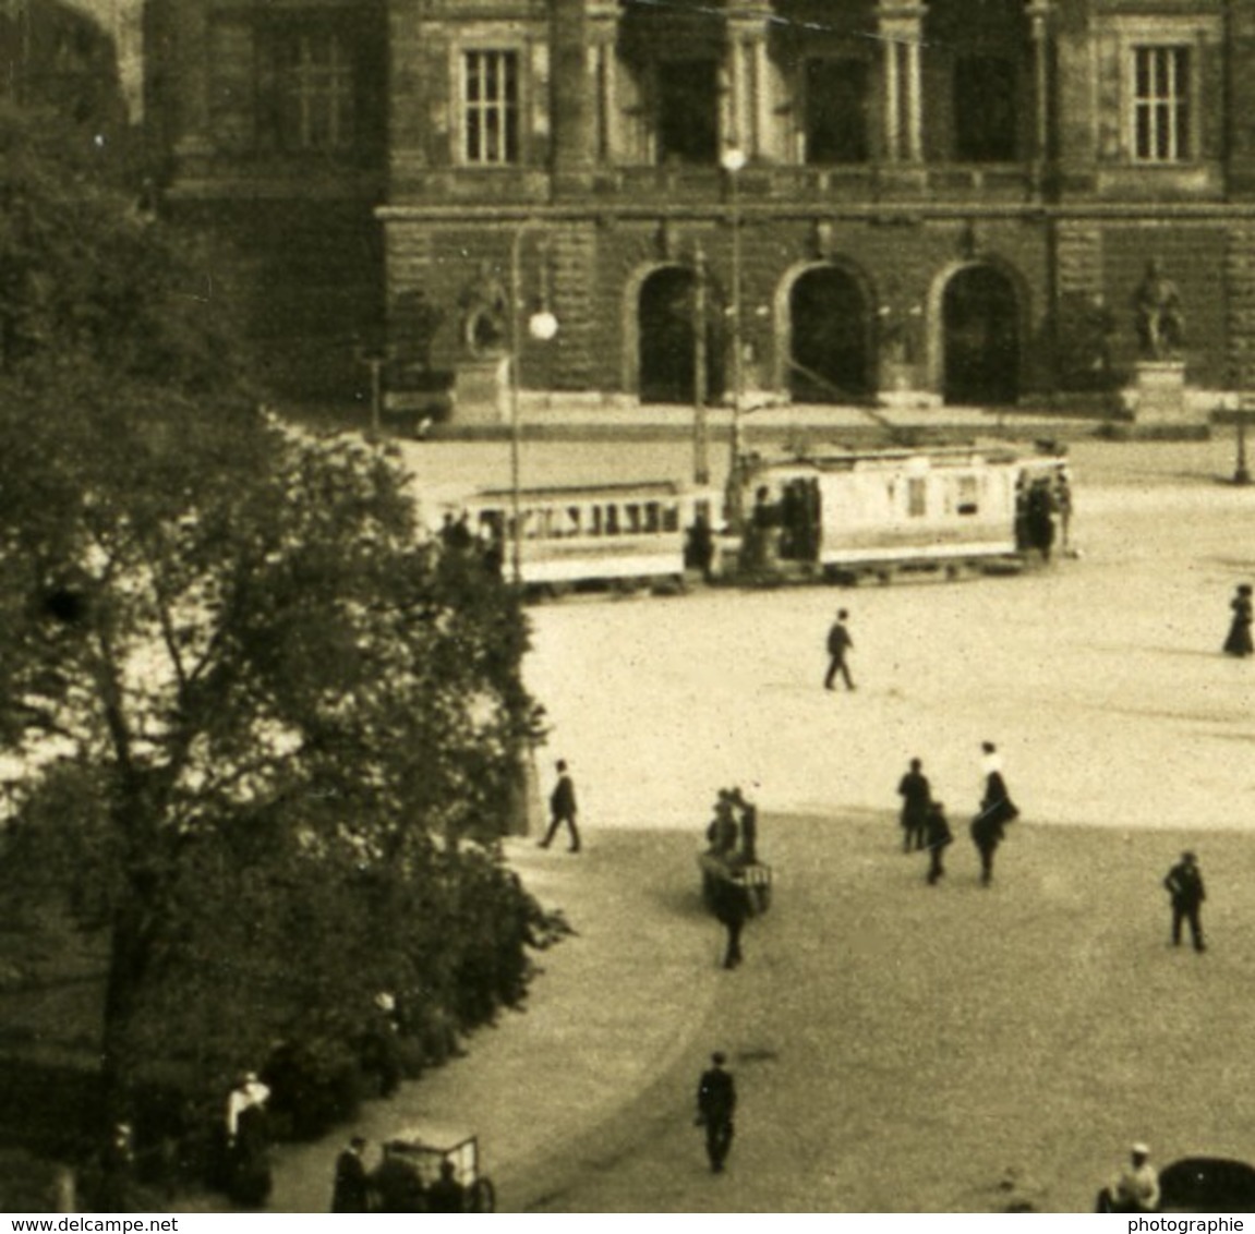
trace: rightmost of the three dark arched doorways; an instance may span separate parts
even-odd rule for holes
[[[959,270],[941,298],[946,403],[1014,403],[1019,397],[1019,299],[990,265]]]

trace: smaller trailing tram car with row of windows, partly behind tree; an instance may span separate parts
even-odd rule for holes
[[[512,490],[457,503],[471,536],[510,575],[515,551]],[[679,591],[694,546],[715,551],[717,490],[674,481],[523,488],[517,493],[520,580],[533,596],[575,590]],[[449,508],[449,507],[447,507]]]

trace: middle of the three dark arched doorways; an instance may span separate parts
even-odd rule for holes
[[[863,402],[873,388],[867,298],[840,266],[813,266],[789,289],[788,388],[796,403]]]

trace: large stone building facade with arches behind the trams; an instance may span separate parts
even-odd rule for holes
[[[310,390],[487,281],[530,388],[1010,404],[1119,382],[1152,257],[1255,384],[1250,0],[152,0],[147,63]]]

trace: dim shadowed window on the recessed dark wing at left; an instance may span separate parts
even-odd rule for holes
[[[289,149],[345,149],[353,144],[353,59],[331,31],[286,40],[282,64],[282,139]]]

